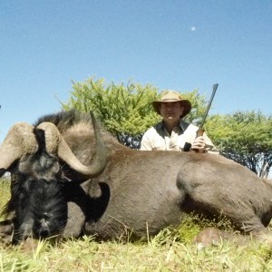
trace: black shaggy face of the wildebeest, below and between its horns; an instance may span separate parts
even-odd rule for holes
[[[12,198],[4,213],[15,212],[15,240],[59,234],[66,225],[67,203],[63,172],[45,149],[44,131],[34,130],[38,151],[12,170]]]

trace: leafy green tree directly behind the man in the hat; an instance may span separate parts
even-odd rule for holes
[[[200,115],[206,108],[205,98],[196,90],[184,92],[182,96],[189,99],[193,107],[186,117],[187,120],[198,124]],[[91,77],[83,83],[73,83],[71,98],[62,104],[64,110],[92,110],[119,141],[127,141],[128,137],[132,136],[138,141],[136,148],[139,148],[142,133],[160,120],[151,104],[159,98],[159,89],[151,84],[142,86],[131,81],[127,84],[105,83],[104,79],[95,80]],[[125,139],[121,140],[122,138]],[[126,145],[133,147],[131,142]]]

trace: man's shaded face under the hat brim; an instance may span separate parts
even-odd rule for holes
[[[180,102],[162,102],[160,105],[160,115],[164,121],[179,121],[182,112],[183,107],[180,106]]]

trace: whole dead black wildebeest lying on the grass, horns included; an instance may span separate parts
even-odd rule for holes
[[[209,153],[133,151],[75,111],[15,124],[0,147],[0,176],[5,171],[12,220],[2,228],[12,223],[15,240],[145,237],[192,211],[225,216],[258,236],[271,219],[271,185],[238,163]]]

